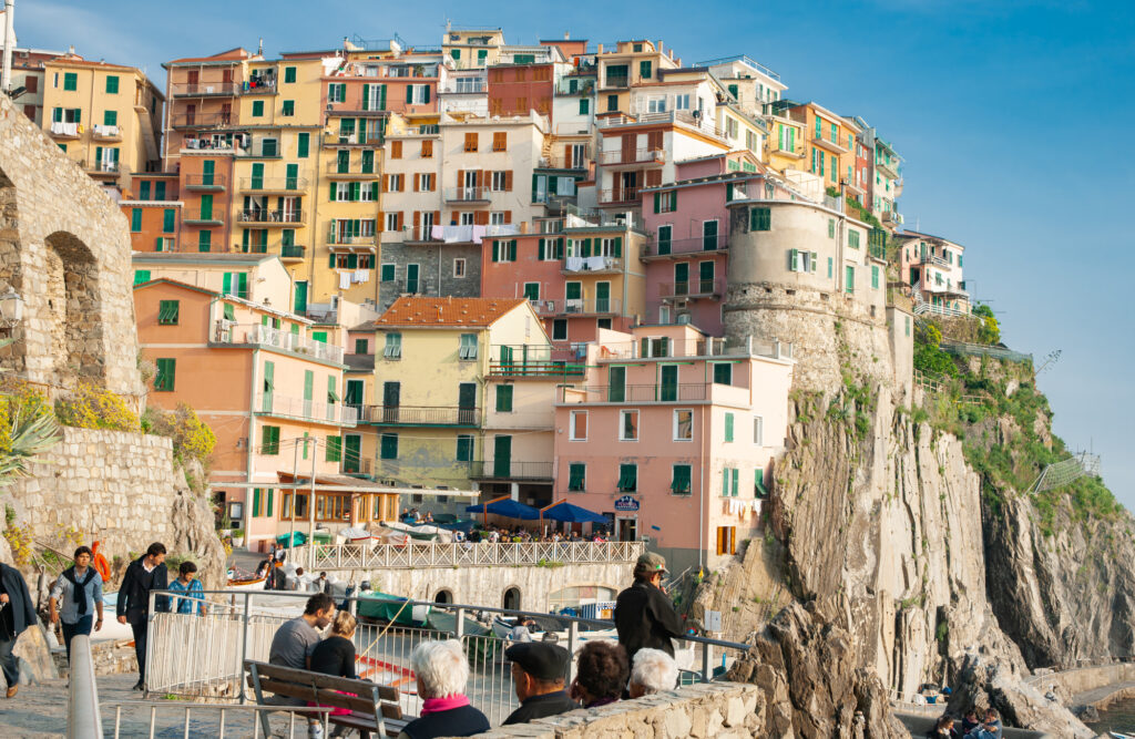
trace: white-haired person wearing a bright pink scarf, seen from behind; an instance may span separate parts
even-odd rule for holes
[[[469,661],[460,641],[422,641],[410,662],[422,699],[421,717],[407,723],[398,739],[471,737],[489,730],[485,714],[469,705]]]

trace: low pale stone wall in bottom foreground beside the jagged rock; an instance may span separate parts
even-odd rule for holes
[[[480,739],[766,737],[763,714],[758,711],[759,699],[760,689],[756,686],[712,682],[638,700],[620,700],[602,708],[580,708],[476,736]]]

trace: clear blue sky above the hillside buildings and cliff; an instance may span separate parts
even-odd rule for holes
[[[535,6],[535,3],[533,3]],[[697,10],[697,12],[691,12]],[[453,15],[456,14],[456,15]],[[20,0],[22,45],[148,68],[237,45],[330,48],[343,36],[439,42],[445,20],[508,42],[662,39],[684,61],[747,53],[788,96],[864,116],[906,159],[907,225],[964,244],[975,296],[1004,341],[1042,358],[1056,430],[1103,456],[1135,510],[1135,2],[876,0],[806,3],[573,1],[245,3]],[[1125,308],[1126,305],[1126,308]]]

